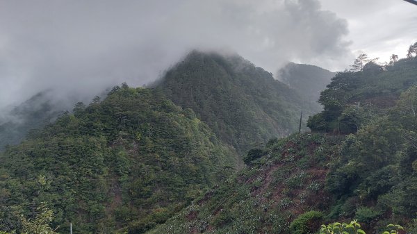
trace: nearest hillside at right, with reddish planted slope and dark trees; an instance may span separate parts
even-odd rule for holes
[[[320,224],[352,219],[366,233],[382,233],[387,224],[417,233],[416,65],[407,58],[338,73],[321,93],[324,110],[316,115],[332,119],[310,125],[324,133],[252,149],[245,169],[149,234],[315,233]],[[372,105],[347,118],[358,101]]]

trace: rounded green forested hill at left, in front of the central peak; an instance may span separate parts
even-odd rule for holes
[[[210,128],[154,90],[113,88],[0,154],[0,230],[46,203],[65,233],[142,233],[234,172]]]

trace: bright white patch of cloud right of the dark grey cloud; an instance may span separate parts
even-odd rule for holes
[[[353,53],[368,53],[389,61],[396,53],[404,58],[417,35],[417,6],[401,0],[320,0],[322,7],[347,19]]]

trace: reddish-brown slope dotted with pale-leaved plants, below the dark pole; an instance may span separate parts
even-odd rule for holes
[[[329,194],[322,190],[324,162],[336,151],[337,143],[336,138],[309,133],[271,142],[262,149],[268,153],[251,167],[148,233],[313,233],[329,201]],[[297,167],[300,162],[302,168]]]

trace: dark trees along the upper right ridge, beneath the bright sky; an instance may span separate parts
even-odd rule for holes
[[[319,102],[324,110],[309,118],[309,128],[316,132],[356,133],[375,114],[395,106],[400,93],[417,82],[415,65],[416,60],[403,59],[384,71],[375,62],[359,62],[353,71],[338,72],[321,92]]]

